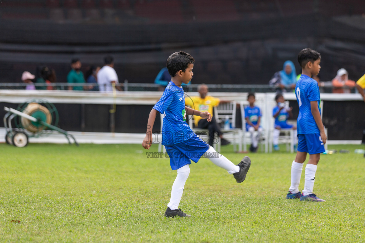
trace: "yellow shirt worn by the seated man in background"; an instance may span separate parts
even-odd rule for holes
[[[213,116],[213,107],[219,105],[219,99],[207,95],[204,99],[200,96],[186,97],[185,105],[190,106],[194,110],[208,111]],[[194,115],[195,126],[198,126],[200,116]]]

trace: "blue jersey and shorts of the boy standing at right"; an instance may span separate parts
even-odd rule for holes
[[[299,105],[298,151],[309,154],[323,153],[325,151],[323,141],[311,111],[311,101],[317,101],[319,113],[321,112],[317,81],[302,74],[296,83],[295,95]]]

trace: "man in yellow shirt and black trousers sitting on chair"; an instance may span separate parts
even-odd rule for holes
[[[185,98],[185,105],[190,106],[194,110],[208,111],[213,115],[213,107],[218,106],[220,100],[214,98],[208,94],[208,86],[201,84],[198,86],[198,92],[200,96],[193,96],[190,98]],[[222,131],[220,130],[220,125],[217,123],[214,117],[212,121],[208,122],[207,119],[201,119],[198,115],[194,115],[195,127],[200,129],[209,130],[209,145],[213,146],[214,134],[218,134],[220,137],[221,145],[230,144],[229,141],[222,138]]]

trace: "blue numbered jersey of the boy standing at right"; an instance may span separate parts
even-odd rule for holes
[[[311,101],[317,101],[319,113],[321,112],[317,81],[302,74],[295,85],[295,95],[299,105],[298,134],[319,134],[318,126],[311,111]]]

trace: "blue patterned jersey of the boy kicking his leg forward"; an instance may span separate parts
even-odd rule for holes
[[[153,109],[164,115],[162,144],[179,144],[195,134],[186,122],[184,90],[172,81]]]

